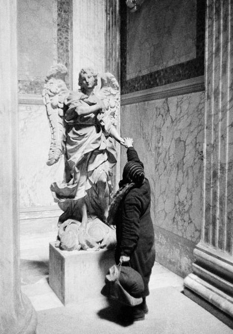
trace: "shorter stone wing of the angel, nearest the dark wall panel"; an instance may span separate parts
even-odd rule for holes
[[[120,109],[120,94],[119,84],[113,74],[107,72],[101,77],[99,96],[106,107],[105,116],[111,119],[113,125],[116,125]]]

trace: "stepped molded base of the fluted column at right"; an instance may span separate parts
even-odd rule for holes
[[[184,279],[184,294],[233,328],[233,259],[199,243],[193,273]]]

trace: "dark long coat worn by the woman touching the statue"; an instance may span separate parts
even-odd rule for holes
[[[133,148],[127,150],[128,161],[141,162]],[[143,165],[143,164],[142,164]],[[115,216],[117,227],[116,263],[121,255],[130,257],[130,266],[144,280],[143,297],[149,295],[148,282],[155,261],[154,230],[150,216],[150,185],[147,179],[132,188],[122,200]]]

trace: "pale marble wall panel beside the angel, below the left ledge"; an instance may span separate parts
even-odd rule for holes
[[[50,184],[63,176],[62,159],[47,166],[50,129],[43,105],[19,105],[20,208],[54,204]]]

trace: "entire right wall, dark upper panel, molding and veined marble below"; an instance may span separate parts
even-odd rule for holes
[[[183,276],[203,214],[204,29],[205,0],[121,2],[121,135],[151,184],[156,260]]]

